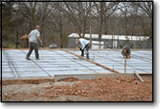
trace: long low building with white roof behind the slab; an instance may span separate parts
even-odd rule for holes
[[[82,35],[82,34],[81,34]],[[92,49],[99,49],[98,34],[92,34]],[[69,36],[69,47],[74,47],[75,38],[79,37],[78,33],[72,33]],[[84,38],[90,40],[90,34],[85,34]],[[142,48],[146,47],[149,36],[126,36],[126,35],[103,35],[101,37],[100,49],[103,48],[120,48],[124,41],[128,40],[133,44],[133,48],[137,48],[140,44]],[[141,43],[142,42],[142,43]],[[140,43],[140,44],[137,44]]]

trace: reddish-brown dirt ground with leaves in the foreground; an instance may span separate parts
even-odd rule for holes
[[[2,101],[152,101],[152,81],[118,77],[2,85]]]

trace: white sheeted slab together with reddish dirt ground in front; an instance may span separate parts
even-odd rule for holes
[[[152,101],[151,50],[132,50],[130,59],[90,50],[90,60],[74,49],[41,49],[41,60],[27,52],[2,50],[2,101]]]

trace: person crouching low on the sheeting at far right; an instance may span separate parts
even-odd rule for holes
[[[129,59],[130,58],[130,55],[131,55],[131,50],[130,50],[130,47],[128,45],[125,45],[123,48],[122,48],[122,51],[121,51],[121,54],[123,55],[123,57],[126,59]]]

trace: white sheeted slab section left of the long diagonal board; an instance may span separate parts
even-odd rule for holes
[[[32,60],[26,60],[28,50],[2,51],[2,79],[5,78],[38,78],[54,77],[55,74],[90,74],[87,70],[97,74],[112,73],[95,64],[78,58],[61,50],[39,50],[41,60],[35,60],[35,53],[31,54]]]

